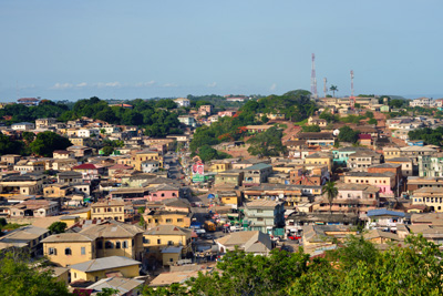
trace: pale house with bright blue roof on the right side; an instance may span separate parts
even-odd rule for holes
[[[368,229],[390,229],[395,231],[396,224],[404,224],[405,214],[398,211],[389,211],[387,208],[378,208],[368,211]]]

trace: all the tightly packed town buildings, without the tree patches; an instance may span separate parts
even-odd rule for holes
[[[326,103],[341,104],[333,100]],[[188,99],[175,102],[189,106]],[[373,98],[362,98],[361,104],[377,105]],[[381,249],[415,233],[442,243],[443,152],[395,134],[439,121],[347,124],[360,131],[358,145],[338,146],[344,124],[312,116],[307,124],[321,132],[295,133],[278,157],[207,163],[190,157],[187,146],[196,125],[234,115],[202,105],[179,116],[183,135],[164,139],[87,118],[3,126],[1,132],[17,140],[24,131],[53,131],[73,145],[52,157],[1,155],[0,216],[25,226],[3,233],[0,252],[47,256],[54,276],[79,293],[115,287],[121,295],[136,295],[144,285],[182,283],[210,272],[219,256],[235,248],[268,255],[276,247],[303,246],[311,256],[321,255],[359,234],[358,227]],[[278,113],[262,115],[284,120]],[[245,129],[254,136],[271,126]],[[123,146],[104,156],[104,139]],[[216,147],[238,146],[247,144]],[[323,190],[330,181],[337,187],[332,200]],[[48,229],[54,222],[66,224],[64,233]]]

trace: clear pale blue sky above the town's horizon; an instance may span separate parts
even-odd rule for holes
[[[441,0],[2,0],[0,102],[282,94],[443,96]]]

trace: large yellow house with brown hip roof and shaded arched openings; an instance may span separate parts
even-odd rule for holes
[[[106,221],[89,226],[80,233],[96,237],[96,258],[124,256],[142,259],[143,257],[143,229],[138,226]]]

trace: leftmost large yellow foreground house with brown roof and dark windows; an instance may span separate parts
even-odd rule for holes
[[[70,266],[94,259],[95,236],[80,233],[60,233],[42,241],[43,254],[59,266]]]

